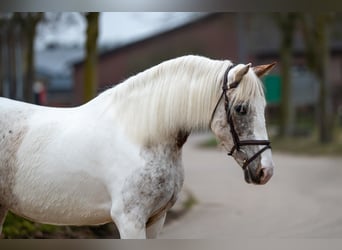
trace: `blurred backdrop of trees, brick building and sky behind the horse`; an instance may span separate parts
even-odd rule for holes
[[[342,155],[341,13],[1,13],[0,96],[80,105],[187,54],[278,62],[262,79],[273,149]]]

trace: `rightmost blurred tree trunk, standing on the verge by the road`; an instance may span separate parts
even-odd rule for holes
[[[319,140],[329,143],[333,138],[333,112],[328,79],[329,36],[333,15],[330,13],[301,14],[300,24],[306,45],[308,66],[319,82]]]

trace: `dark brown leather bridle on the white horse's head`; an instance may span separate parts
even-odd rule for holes
[[[234,142],[234,146],[231,148],[230,152],[228,153],[228,155],[232,156],[233,153],[235,151],[237,152],[242,152],[244,153],[243,150],[241,150],[242,146],[248,146],[248,145],[254,145],[254,146],[259,146],[259,145],[265,145],[263,148],[261,148],[258,152],[256,152],[252,157],[250,158],[246,158],[243,161],[243,165],[242,165],[242,169],[246,170],[248,165],[255,160],[262,152],[264,152],[266,149],[271,148],[271,142],[269,140],[240,140],[236,130],[235,130],[235,126],[234,126],[234,122],[233,122],[233,118],[232,118],[232,114],[230,112],[230,108],[229,108],[229,99],[228,99],[228,95],[227,95],[227,91],[228,89],[231,88],[236,88],[240,81],[234,81],[231,84],[229,84],[229,88],[228,88],[228,72],[234,67],[235,65],[231,65],[230,67],[228,67],[228,69],[226,70],[225,74],[224,74],[224,80],[223,80],[223,85],[222,85],[222,94],[215,106],[215,109],[213,111],[213,114],[211,116],[211,120],[210,120],[210,124],[213,120],[214,114],[216,113],[216,109],[219,105],[219,103],[221,102],[221,99],[224,98],[224,108],[226,110],[226,118],[227,118],[227,123],[229,124],[230,127],[230,133],[232,135],[233,138],[233,142]]]

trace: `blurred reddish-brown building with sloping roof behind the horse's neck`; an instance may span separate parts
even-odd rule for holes
[[[143,40],[115,47],[98,57],[99,92],[164,60],[198,54],[239,59],[235,15],[211,14]],[[74,65],[75,104],[82,103],[84,63]]]

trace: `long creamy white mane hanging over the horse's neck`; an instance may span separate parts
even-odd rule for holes
[[[183,56],[132,76],[101,95],[111,98],[115,116],[133,140],[142,144],[162,141],[179,130],[208,128],[224,72],[231,64]],[[249,78],[256,82],[255,75]]]

